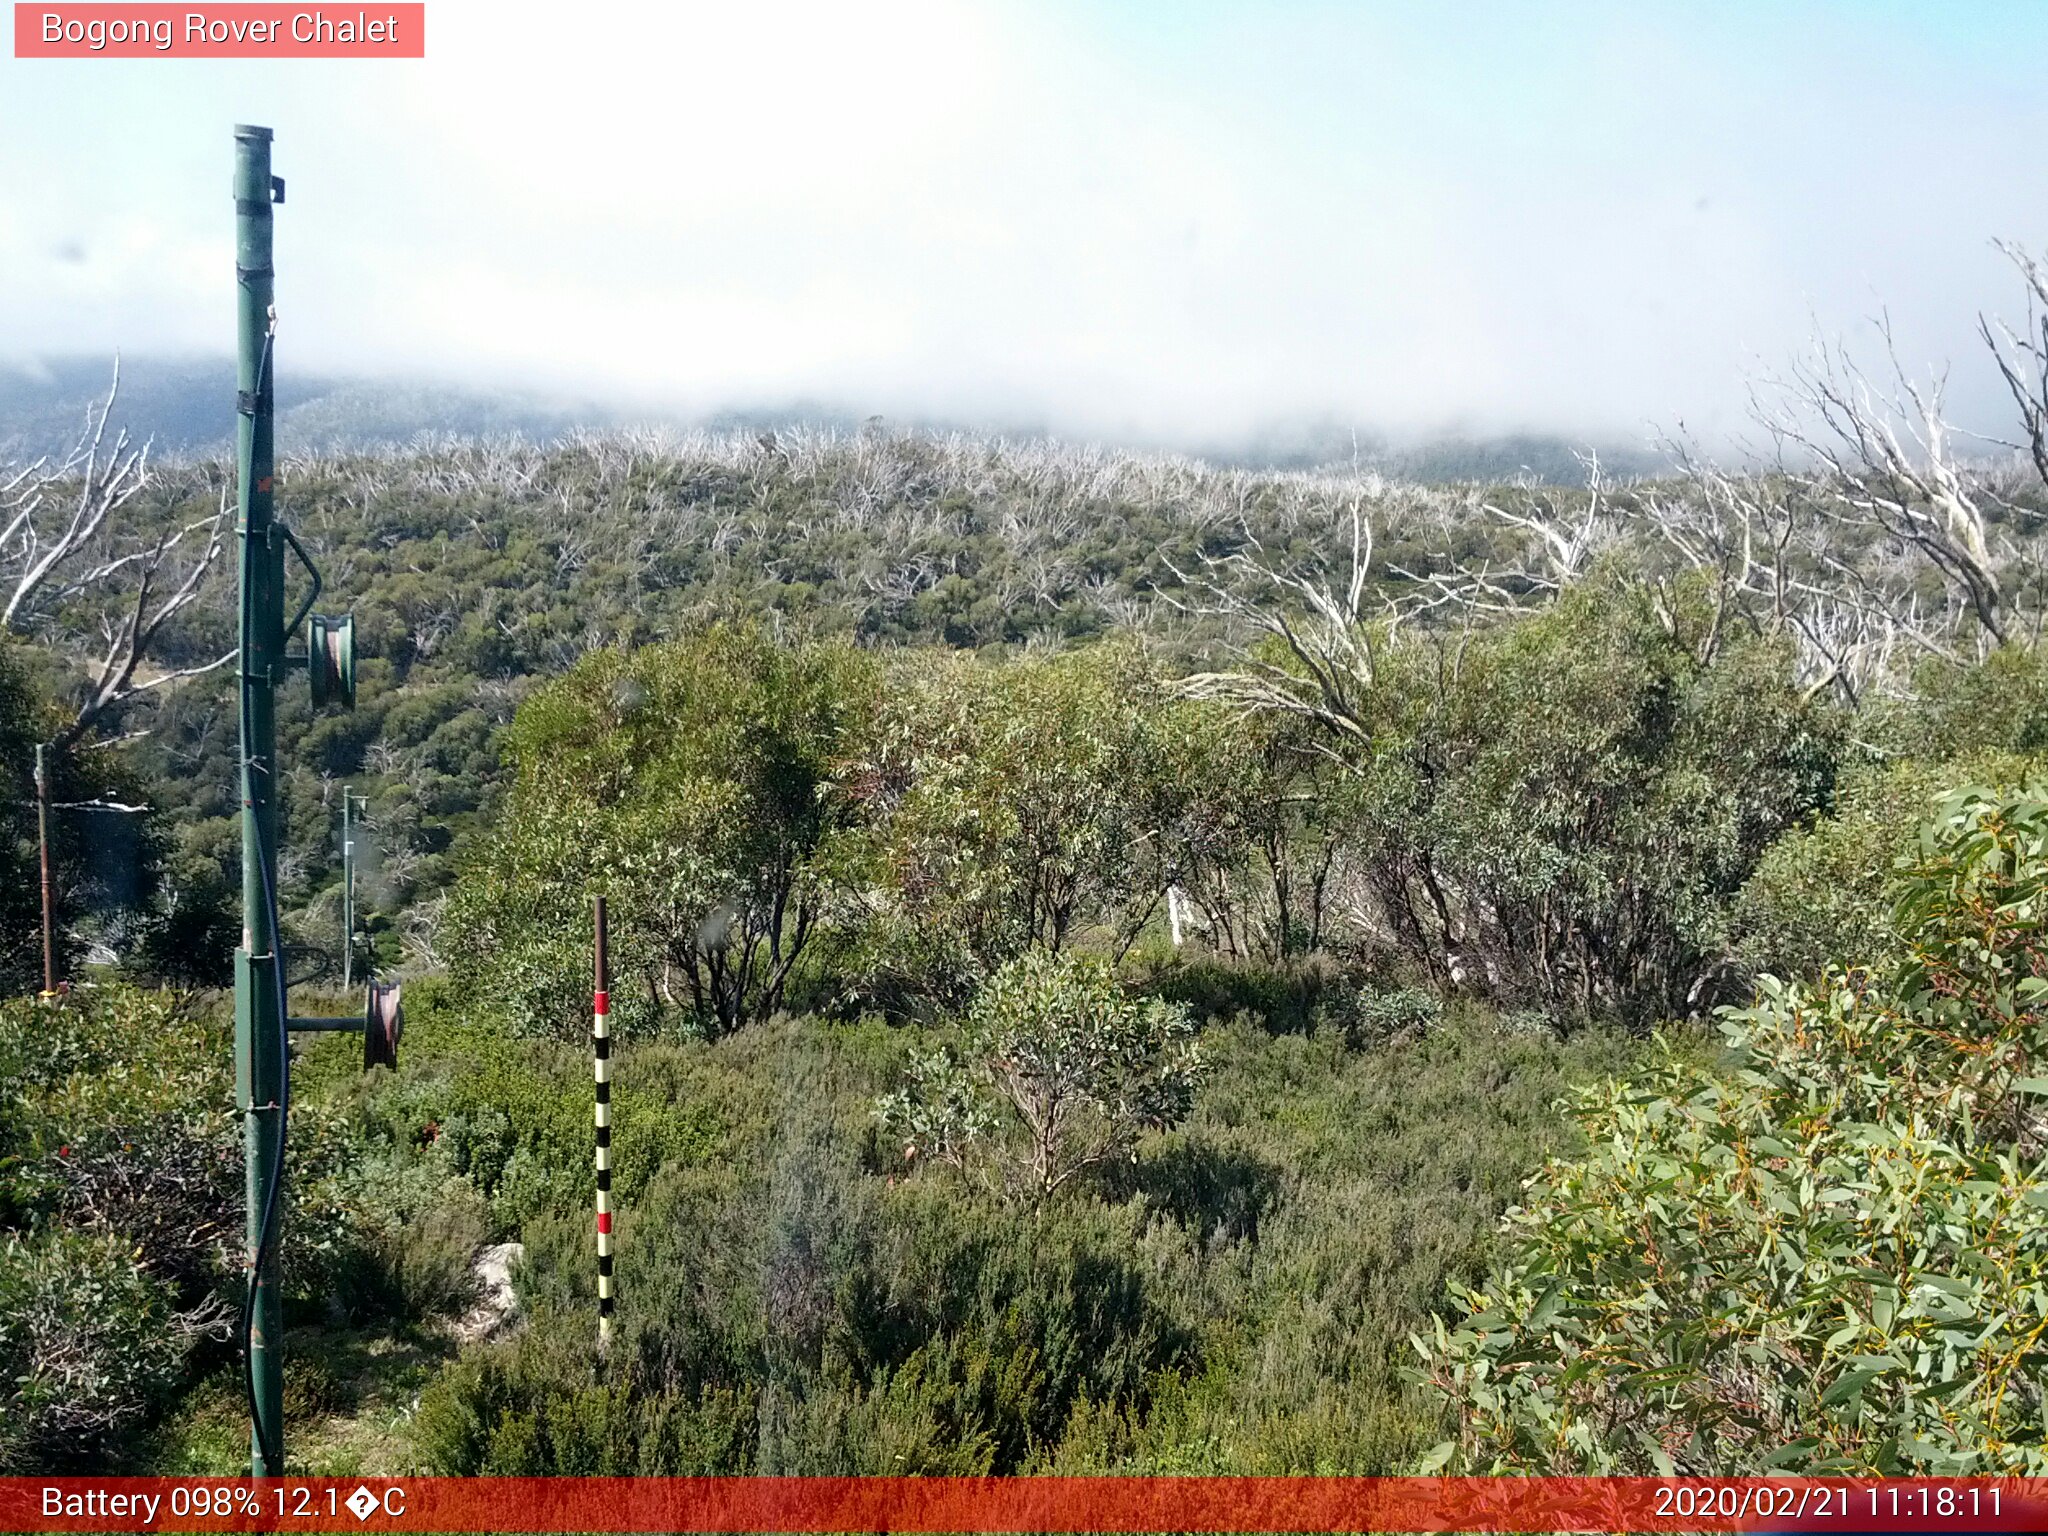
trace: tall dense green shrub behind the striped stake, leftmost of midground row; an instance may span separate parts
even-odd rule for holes
[[[516,780],[449,911],[453,971],[522,1032],[575,1040],[590,897],[612,903],[623,1034],[774,1014],[838,891],[836,760],[870,709],[846,645],[715,627],[596,651],[520,709]]]

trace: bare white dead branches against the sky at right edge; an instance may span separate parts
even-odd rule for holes
[[[1851,709],[1874,688],[1905,686],[1915,655],[1964,664],[2040,643],[2048,623],[2038,506],[2048,487],[2048,266],[1999,248],[2023,279],[2028,317],[2013,328],[1980,315],[1978,334],[2019,412],[2019,436],[1978,442],[2013,461],[1964,446],[1972,434],[1948,420],[1946,377],[1913,377],[1880,315],[1878,375],[1841,342],[1821,342],[1757,387],[1751,412],[1776,449],[1774,469],[1731,473],[1665,442],[1679,483],[1638,504],[1647,537],[1706,578],[1739,621],[1790,635],[1808,686]]]

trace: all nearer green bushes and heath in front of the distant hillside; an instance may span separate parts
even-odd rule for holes
[[[1970,1100],[1956,1130],[1964,1106],[1933,1087],[1954,1063],[1942,1079],[1939,1030],[1915,1022],[1935,1004],[1884,971],[1929,918],[1894,915],[1880,874],[1954,762],[1843,766],[1911,725],[1872,717],[1855,731],[1872,741],[1845,745],[1778,645],[1708,643],[1690,602],[1595,580],[1462,639],[1386,633],[1356,741],[1190,698],[1135,645],[879,657],[715,627],[584,657],[508,737],[518,776],[463,854],[455,975],[412,989],[406,1067],[362,1079],[346,1040],[301,1059],[293,1323],[461,1309],[477,1245],[526,1243],[524,1329],[465,1350],[422,1397],[412,1446],[436,1470],[1397,1470],[1446,1427],[1407,1337],[1456,1282],[1487,1303],[1423,1346],[1470,1403],[1446,1458],[1608,1464],[1581,1454],[1597,1442],[1620,1446],[1599,1452],[1616,1466],[1960,1466],[1958,1436],[2005,1444],[1995,1413],[1942,1417],[2017,1380],[1987,1366],[1980,1391],[1968,1350],[1942,1354],[1962,1321],[1927,1276],[1982,1276],[1913,1260],[1890,1311],[1884,1284],[1855,1288],[1868,1276],[1827,1292],[1878,1329],[1864,1348],[1780,1257],[1833,1264],[1827,1245],[1866,1243],[1915,1200],[1952,1225],[2005,1200],[1980,1186],[2011,1169],[1968,1141],[2005,1135],[1999,1106]],[[1935,735],[2003,754],[2028,729]],[[1999,780],[2025,766],[1964,762]],[[2017,850],[2007,831],[2034,811],[1987,805],[2005,809],[1972,813],[1970,836],[1997,823],[1989,846]],[[1954,862],[1964,842],[1935,852]],[[602,1372],[592,891],[612,899],[627,1034]],[[2028,954],[2011,926],[1978,938]],[[1591,1151],[1536,1186],[1540,1229],[1516,1225],[1518,1268],[1481,1284],[1501,1206],[1575,1135],[1556,1094],[1630,1059],[1587,1018],[1704,1012],[1751,971],[1821,956],[1860,969],[1767,991],[1733,1087],[1681,1047],[1651,1100],[1585,1100]],[[37,1389],[45,1405],[98,1393],[109,1425],[133,1423],[195,1360],[229,1368],[205,1343],[238,1278],[225,1026],[141,993],[18,1008],[0,1063],[27,1108],[0,1126],[0,1200],[33,1329],[4,1348],[57,1382],[49,1339],[90,1364],[147,1329],[125,1397]],[[1876,1079],[1927,1098],[1886,1100]],[[1722,1112],[1733,1128],[1698,1128]],[[2015,1124],[2009,1161],[2032,1137]],[[1886,1137],[1948,1171],[1911,1200],[1864,1188],[1858,1159],[1868,1174]],[[1645,1212],[1679,1243],[1702,1210],[1718,1245],[1686,1264],[1722,1266],[1712,1305],[1657,1268],[1665,1249],[1630,1249]],[[1997,1249],[2032,1241],[2023,1210],[1999,1210],[1987,1251],[2032,1274]],[[166,1241],[162,1212],[205,1241]],[[63,1276],[100,1286],[113,1243],[147,1260],[135,1284],[106,1280],[117,1307],[98,1319]],[[1638,1307],[1645,1286],[1663,1311]],[[1944,1294],[2017,1305],[1985,1286]],[[1757,1315],[1790,1319],[1761,1341],[1714,1311],[1759,1294],[1780,1311]],[[1761,1356],[1722,1366],[1722,1350]],[[1602,1374],[1620,1358],[1636,1374]],[[1780,1380],[1757,1411],[1731,1399],[1792,1360],[1853,1370]],[[1901,1417],[1929,1401],[1933,1417]],[[1774,1438],[1808,1411],[1847,1427]],[[1939,1442],[1939,1423],[1962,1427]],[[10,1454],[55,1454],[49,1425]]]

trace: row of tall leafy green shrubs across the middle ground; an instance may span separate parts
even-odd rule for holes
[[[1737,893],[1827,807],[1843,737],[1784,645],[1620,578],[1391,633],[1354,707],[1346,739],[1245,719],[1126,643],[877,659],[717,627],[600,651],[508,735],[455,973],[573,1038],[602,889],[627,1030],[934,1018],[1024,952],[1169,932],[1645,1024],[1737,993]]]

